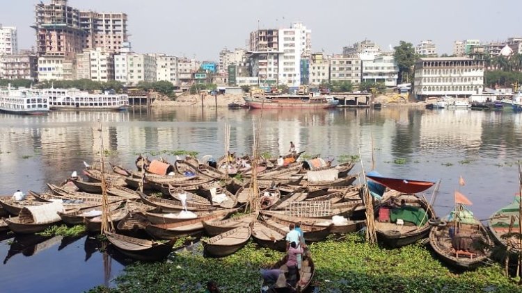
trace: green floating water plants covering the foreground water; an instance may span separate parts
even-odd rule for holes
[[[500,265],[457,273],[436,260],[421,244],[401,249],[371,246],[363,236],[350,234],[310,244],[315,263],[313,286],[319,292],[520,292],[522,287],[503,276]],[[203,292],[216,281],[221,292],[258,292],[260,268],[270,267],[283,253],[249,242],[226,258],[204,258],[175,253],[168,262],[137,263],[116,278],[116,288],[95,287],[90,292]]]

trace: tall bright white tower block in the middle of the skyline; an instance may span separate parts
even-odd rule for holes
[[[301,60],[310,60],[312,31],[302,22],[294,22],[290,28],[281,28],[278,36],[278,83],[291,87],[301,85]]]

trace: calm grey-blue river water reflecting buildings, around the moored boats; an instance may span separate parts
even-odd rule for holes
[[[251,153],[253,129],[260,125],[262,152],[287,153],[292,141],[297,151],[320,153],[322,158],[361,156],[352,172],[369,171],[373,165],[385,176],[440,179],[435,201],[439,216],[452,207],[454,190],[473,201],[470,208],[479,219],[486,219],[510,203],[519,188],[522,116],[518,113],[176,108],[58,111],[41,117],[0,114],[0,194],[45,191],[46,183],[61,183],[72,171],[81,174],[84,161],[99,157],[102,143],[110,162],[127,167],[134,166],[139,153],[171,162],[175,158],[166,151],[198,151],[199,157],[217,158],[225,150],[227,125],[230,149],[238,154]],[[459,185],[459,176],[466,185]],[[426,192],[428,199],[432,190]],[[118,253],[97,251],[99,244],[89,237],[17,237],[15,247],[9,245],[13,235],[0,234],[0,240],[0,258],[6,258],[0,264],[0,284],[6,292],[80,292],[110,285],[127,263]]]

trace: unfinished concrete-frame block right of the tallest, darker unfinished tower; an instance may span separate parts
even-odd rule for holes
[[[80,27],[86,32],[84,49],[102,48],[119,53],[122,43],[127,42],[127,15],[122,12],[80,12]]]

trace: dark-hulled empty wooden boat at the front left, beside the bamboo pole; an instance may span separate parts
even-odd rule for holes
[[[125,256],[144,261],[163,260],[171,253],[175,243],[174,239],[168,242],[157,242],[116,233],[105,233],[105,235],[107,240]]]

